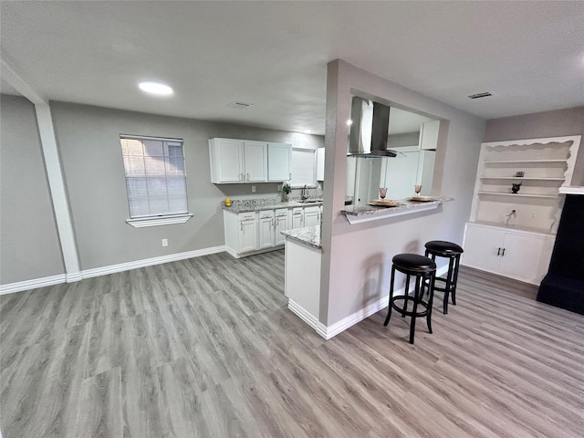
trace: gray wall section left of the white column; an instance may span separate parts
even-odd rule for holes
[[[0,105],[0,281],[64,274],[35,107],[7,95]]]

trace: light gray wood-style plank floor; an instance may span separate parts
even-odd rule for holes
[[[584,435],[584,317],[535,287],[463,268],[433,335],[383,310],[325,341],[283,266],[209,255],[0,297],[2,435]]]

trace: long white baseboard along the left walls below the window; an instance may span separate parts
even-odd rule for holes
[[[116,272],[129,271],[130,269],[137,269],[139,267],[161,265],[162,263],[176,262],[178,260],[184,260],[187,258],[200,257],[202,255],[223,253],[224,250],[224,245],[212,246],[210,248],[195,249],[194,251],[186,251],[184,253],[144,258],[134,262],[120,263],[119,265],[86,269],[73,274],[60,274],[58,276],[45,276],[43,278],[35,278],[33,280],[19,281],[7,285],[0,285],[0,295],[22,292],[23,290],[36,289],[37,287],[53,286],[60,283],[71,283],[82,280],[83,278],[91,278],[92,276],[106,276]]]

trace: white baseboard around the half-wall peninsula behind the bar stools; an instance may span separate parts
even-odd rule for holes
[[[436,271],[436,276],[443,276],[448,272],[448,266],[443,266]],[[404,287],[401,287],[398,290],[395,290],[393,294],[395,296],[403,295]],[[323,337],[324,339],[331,339],[337,336],[340,332],[345,331],[347,328],[354,326],[355,324],[360,323],[363,319],[369,318],[374,313],[379,312],[383,308],[387,308],[389,303],[389,291],[388,295],[385,297],[381,297],[379,300],[371,303],[369,306],[365,308],[361,308],[360,310],[352,313],[348,317],[342,318],[340,321],[335,322],[330,326],[325,326],[321,322],[318,321],[318,318],[314,317],[313,315],[309,314],[304,308],[298,306],[298,304],[291,299],[288,300],[288,308],[294,312],[298,318],[302,319],[304,322],[308,324],[311,328],[314,328],[318,335]]]

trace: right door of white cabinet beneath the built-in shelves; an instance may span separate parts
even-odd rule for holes
[[[506,233],[505,253],[501,256],[499,270],[503,275],[531,282],[541,280],[541,277],[538,278],[541,276],[539,259],[546,253],[546,244],[547,239],[544,237]]]

